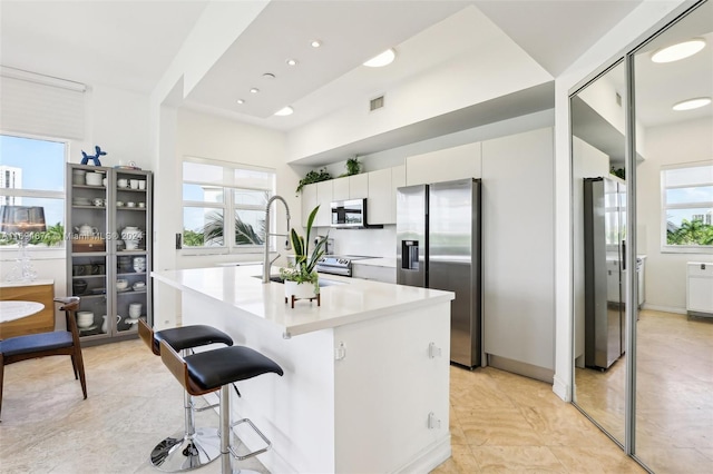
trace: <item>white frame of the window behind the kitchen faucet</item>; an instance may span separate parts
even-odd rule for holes
[[[209,165],[221,167],[223,169],[222,182],[206,182],[195,179],[185,179],[183,176],[184,164],[192,162],[198,165]],[[244,186],[243,184],[236,184],[234,180],[236,170],[260,171],[270,174],[271,189],[255,186]],[[242,254],[262,254],[264,251],[264,244],[261,245],[236,245],[235,244],[235,213],[238,210],[264,210],[263,205],[238,205],[234,199],[234,191],[236,190],[252,190],[252,191],[265,191],[266,198],[274,196],[276,192],[277,174],[273,168],[265,168],[254,165],[246,165],[242,162],[223,161],[213,158],[202,158],[196,156],[184,156],[180,161],[182,174],[182,239],[183,233],[186,230],[184,223],[184,210],[186,208],[208,208],[208,209],[222,209],[224,219],[224,234],[222,246],[202,246],[202,247],[186,247],[182,245],[180,255],[183,256],[199,256],[199,255],[242,255]],[[199,186],[214,186],[223,190],[222,203],[209,201],[196,201],[196,200],[183,200],[183,186],[184,185],[199,185]],[[275,224],[275,216],[271,216],[271,225]],[[270,249],[273,248],[273,239],[268,238]]]

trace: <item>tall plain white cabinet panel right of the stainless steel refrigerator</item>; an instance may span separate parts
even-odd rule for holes
[[[485,352],[535,378],[555,361],[553,141],[546,128],[482,142]]]

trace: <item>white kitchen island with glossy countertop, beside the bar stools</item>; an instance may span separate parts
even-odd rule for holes
[[[184,325],[217,327],[284,369],[241,382],[231,402],[272,441],[258,456],[271,472],[426,473],[450,456],[452,293],[329,276],[321,306],[292,309],[282,284],[255,278],[261,266],[152,275],[180,290]]]

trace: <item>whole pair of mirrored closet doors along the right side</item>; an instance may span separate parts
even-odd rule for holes
[[[652,472],[713,465],[711,97],[711,0],[570,97],[573,402]]]

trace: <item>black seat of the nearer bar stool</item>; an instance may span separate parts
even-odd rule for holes
[[[204,391],[244,381],[270,372],[283,375],[282,368],[261,353],[244,346],[223,347],[184,358],[188,375]]]

